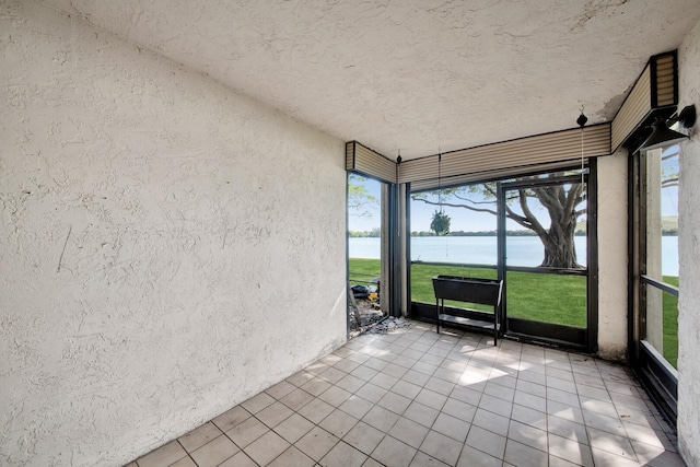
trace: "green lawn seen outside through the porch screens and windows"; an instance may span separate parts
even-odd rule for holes
[[[438,275],[495,279],[493,269],[413,265],[411,266],[411,299],[435,303],[431,278]],[[350,258],[350,281],[380,276],[378,259]],[[511,317],[586,327],[586,278],[582,276],[508,273],[508,313]],[[664,282],[678,285],[678,278],[664,276]],[[361,282],[360,282],[361,283]],[[460,302],[445,302],[464,307]],[[678,359],[678,299],[664,293],[664,358],[676,367]],[[482,305],[471,308],[491,311]]]

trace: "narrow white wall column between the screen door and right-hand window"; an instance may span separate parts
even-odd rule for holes
[[[627,151],[598,157],[598,355],[627,359]]]

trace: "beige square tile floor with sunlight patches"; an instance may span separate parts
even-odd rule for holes
[[[684,466],[619,365],[411,322],[137,459],[153,466]]]

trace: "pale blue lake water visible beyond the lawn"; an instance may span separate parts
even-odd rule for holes
[[[542,261],[542,244],[536,236],[508,237],[510,266],[538,266]],[[575,237],[579,262],[586,262],[586,238]],[[380,258],[380,238],[350,238],[351,258]],[[495,265],[495,236],[425,236],[411,237],[411,260]],[[665,276],[678,276],[678,237],[664,236],[662,268]]]

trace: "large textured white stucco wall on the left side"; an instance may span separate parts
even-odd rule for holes
[[[346,336],[342,141],[0,4],[0,464],[120,465]]]

